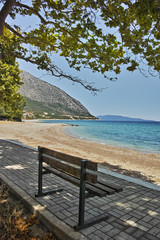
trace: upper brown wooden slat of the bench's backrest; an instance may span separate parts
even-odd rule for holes
[[[66,153],[61,153],[55,150],[51,150],[48,148],[43,147],[43,153],[61,160],[65,160],[66,162],[81,166],[81,160],[82,158],[75,157]],[[92,161],[87,160],[87,168],[92,170],[92,171],[97,171],[98,169],[98,164]]]

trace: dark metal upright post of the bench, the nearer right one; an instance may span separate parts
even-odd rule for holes
[[[86,165],[87,160],[81,161],[81,172],[80,172],[80,193],[79,193],[79,219],[78,226],[82,226],[84,223],[84,212],[85,212],[85,181],[86,181]]]

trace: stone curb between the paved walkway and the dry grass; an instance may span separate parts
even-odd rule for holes
[[[75,232],[64,222],[53,216],[45,207],[29,196],[24,190],[15,185],[6,176],[0,173],[0,178],[8,185],[9,192],[34,214],[45,227],[53,232],[59,240],[87,240],[79,232]]]

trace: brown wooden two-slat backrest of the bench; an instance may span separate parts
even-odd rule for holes
[[[47,163],[52,168],[65,172],[68,175],[80,178],[82,158],[75,157],[66,153],[61,153],[44,147],[38,147],[39,160]],[[88,161],[86,164],[86,180],[97,183],[97,163]]]

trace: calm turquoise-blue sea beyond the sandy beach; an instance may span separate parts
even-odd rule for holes
[[[160,155],[160,122],[75,120],[44,120],[41,122],[78,125],[67,127],[65,132],[73,137]]]

